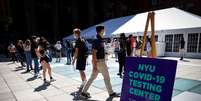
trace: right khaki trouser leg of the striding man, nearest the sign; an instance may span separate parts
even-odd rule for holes
[[[109,76],[108,68],[105,61],[97,62],[97,67],[100,73],[103,75],[108,94],[109,95],[112,94],[113,93],[112,85],[110,82],[110,76]]]

